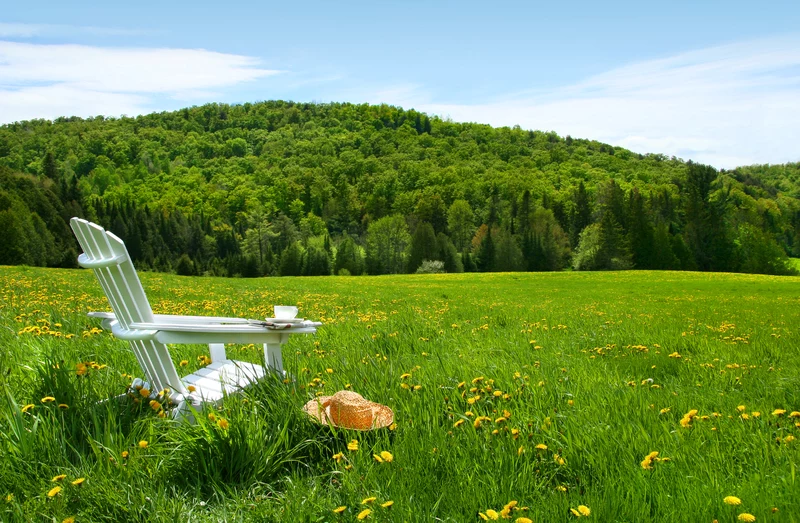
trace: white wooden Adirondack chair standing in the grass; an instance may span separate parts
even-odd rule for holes
[[[283,375],[281,345],[292,334],[314,333],[322,325],[294,316],[260,321],[153,314],[122,240],[81,218],[72,218],[70,226],[84,251],[78,264],[94,270],[113,310],[90,312],[89,316],[102,319],[104,328],[130,342],[148,382],[145,386],[154,392],[169,389],[171,401],[178,405],[173,411],[176,417],[185,415],[190,404],[198,407],[204,402],[219,402],[225,394],[239,391],[266,374],[268,369],[261,365],[229,360],[225,343],[263,344],[267,367]],[[279,309],[287,308],[276,307],[276,311]],[[181,378],[167,343],[208,344],[211,364]]]

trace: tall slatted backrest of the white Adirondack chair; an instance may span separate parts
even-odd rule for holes
[[[123,241],[96,223],[81,218],[72,218],[70,226],[83,249],[78,264],[94,270],[120,326],[128,329],[134,322],[152,323],[153,310]],[[185,392],[163,343],[131,341],[130,344],[153,390],[170,388]]]

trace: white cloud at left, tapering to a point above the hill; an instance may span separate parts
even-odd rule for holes
[[[0,41],[0,123],[141,114],[168,97],[194,102],[279,74],[259,60],[204,49],[112,48]]]

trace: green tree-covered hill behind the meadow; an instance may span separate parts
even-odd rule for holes
[[[800,163],[717,171],[366,104],[0,126],[0,264],[75,266],[72,216],[187,275],[789,274]]]

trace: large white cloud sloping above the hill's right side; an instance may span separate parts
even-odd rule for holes
[[[800,160],[800,38],[633,63],[556,89],[474,104],[419,87],[373,95],[456,121],[520,125],[732,168]]]

